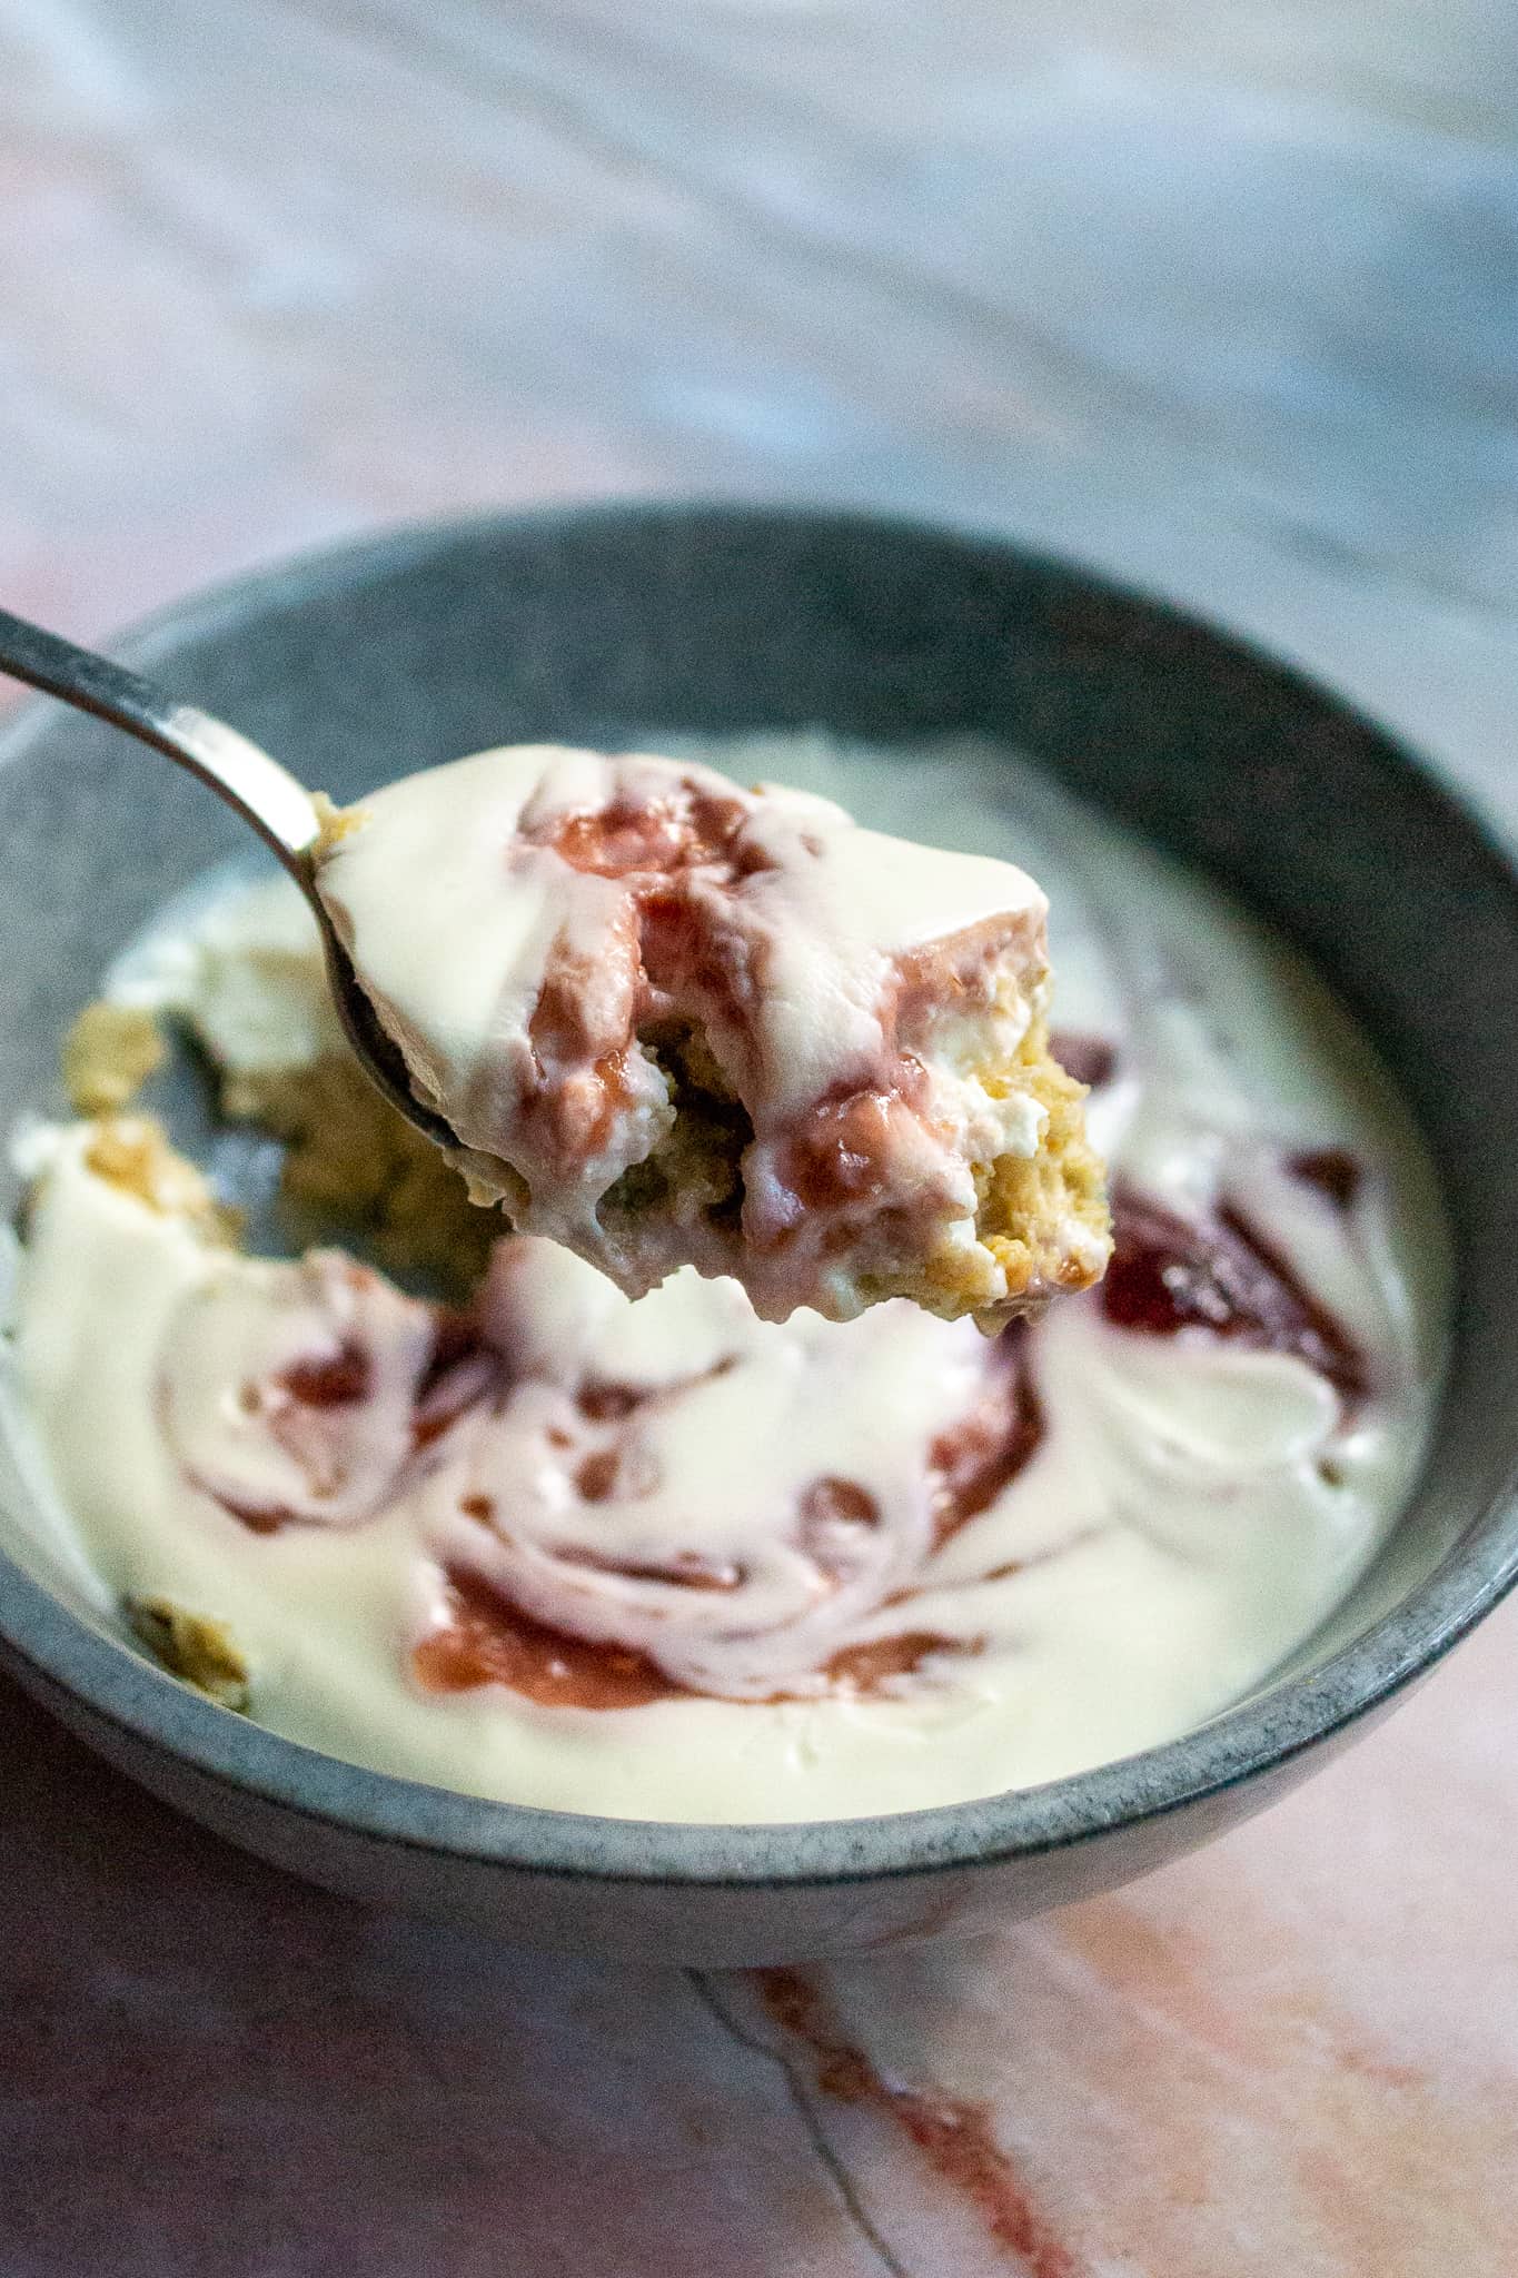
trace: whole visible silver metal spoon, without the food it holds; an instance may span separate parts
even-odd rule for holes
[[[401,1048],[380,1027],[316,893],[312,854],[321,818],[305,784],[298,784],[278,759],[248,743],[223,720],[214,720],[193,704],[178,704],[166,690],[127,672],[125,665],[112,663],[109,656],[80,649],[73,640],[59,640],[57,633],[46,633],[39,624],[11,617],[2,608],[0,672],[14,681],[27,681],[30,688],[41,688],[50,697],[61,697],[64,704],[93,713],[96,720],[109,720],[112,727],[125,729],[139,743],[150,743],[155,752],[209,784],[259,834],[284,863],[316,918],[337,1018],[360,1066],[407,1123],[414,1123],[439,1146],[457,1146],[457,1137],[444,1118],[414,1096]]]

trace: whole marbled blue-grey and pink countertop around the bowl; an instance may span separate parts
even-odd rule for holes
[[[872,501],[1199,604],[1518,827],[1504,0],[0,0],[0,592],[460,506]],[[369,1914],[0,1693],[7,2278],[1500,2278],[1518,1604],[963,1948]]]

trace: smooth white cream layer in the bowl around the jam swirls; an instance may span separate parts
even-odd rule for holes
[[[1040,816],[1049,831],[1061,1025],[1117,1048],[1092,1096],[1099,1144],[1165,1207],[1245,1212],[1334,1310],[1368,1394],[1345,1401],[1302,1358],[1243,1339],[1113,1326],[1095,1292],[1063,1301],[1024,1337],[1042,1437],[933,1547],[933,1440],[992,1383],[995,1351],[967,1324],[885,1305],[849,1326],[767,1326],[731,1285],[685,1276],[633,1305],[521,1242],[482,1305],[514,1394],[455,1376],[460,1412],[448,1424],[446,1401],[416,1449],[426,1312],[346,1285],[337,1262],[209,1253],[84,1173],[64,1139],[16,1339],[57,1524],[112,1597],[223,1617],[262,1722],[471,1793],[637,1818],[858,1816],[1163,1740],[1327,1615],[1411,1483],[1443,1244],[1406,1121],[1322,991],[1252,925],[1001,761],[851,770],[803,740],[712,756],[810,768],[897,829],[931,813],[935,836],[981,843],[1010,781],[1017,843]],[[1347,1210],[1286,1169],[1322,1148],[1366,1171]],[[275,1412],[271,1433],[244,1387],[355,1342],[382,1365],[332,1465],[330,1417]],[[585,1385],[637,1399],[585,1401]],[[799,1535],[817,1481],[856,1488],[874,1517],[833,1492]],[[275,1533],[230,1508],[300,1497]],[[717,1588],[671,1583],[692,1558]],[[410,1656],[446,1620],[451,1563],[578,1636],[653,1649],[683,1683],[785,1697],[567,1708],[501,1683],[426,1690]],[[828,1658],[904,1633],[933,1640],[908,1674],[817,1695]]]

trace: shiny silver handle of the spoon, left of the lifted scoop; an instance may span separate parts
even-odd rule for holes
[[[139,743],[189,768],[253,825],[287,870],[305,884],[305,854],[319,820],[310,790],[269,752],[193,704],[178,704],[139,672],[77,649],[0,608],[0,672],[80,711],[109,720]]]

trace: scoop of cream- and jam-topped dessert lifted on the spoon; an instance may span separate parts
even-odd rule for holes
[[[851,1319],[944,1255],[963,1312],[1097,1278],[1072,1210],[1047,1285],[976,1235],[976,1173],[1045,1130],[1004,1080],[1047,1000],[1047,904],[1010,863],[530,747],[376,793],[319,879],[476,1196],[624,1292],[694,1264],[783,1321]]]

